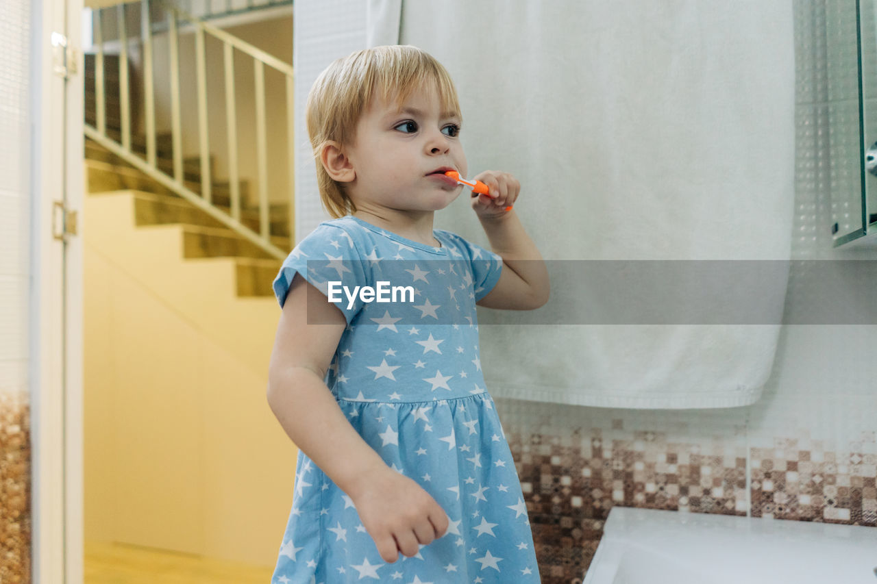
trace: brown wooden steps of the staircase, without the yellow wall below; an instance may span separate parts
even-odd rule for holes
[[[85,57],[85,121],[89,125],[96,125],[94,95],[96,60],[94,55],[87,54]],[[106,135],[121,141],[118,55],[104,55],[103,59]],[[129,79],[133,80],[133,75],[129,75]],[[134,91],[132,95],[136,95]],[[137,108],[132,108],[132,111],[136,110]],[[135,120],[132,119],[132,127],[137,127],[134,122]],[[131,142],[132,151],[139,153],[139,156],[146,160],[146,138],[132,134]],[[156,166],[159,170],[173,175],[173,146],[169,132],[156,136],[156,155]],[[89,197],[132,196],[133,225],[179,226],[183,258],[191,261],[216,258],[232,260],[236,274],[235,292],[238,296],[273,296],[271,282],[280,269],[282,264],[280,260],[89,138],[85,139],[85,166]],[[193,192],[200,193],[202,184],[200,158],[197,156],[184,158],[183,167],[185,186]],[[213,167],[214,157],[211,155],[211,176],[215,176]],[[241,181],[239,184],[241,223],[253,231],[259,231],[259,209],[250,201],[249,184],[246,181]],[[211,199],[214,207],[231,216],[229,182],[214,181]],[[292,248],[288,218],[288,203],[270,205],[271,243],[284,250]]]

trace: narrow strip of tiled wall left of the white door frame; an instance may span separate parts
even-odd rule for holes
[[[31,6],[0,4],[0,582],[31,572]]]

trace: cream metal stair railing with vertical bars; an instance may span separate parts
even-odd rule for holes
[[[199,209],[210,214],[223,224],[227,225],[233,231],[239,233],[243,238],[252,241],[255,245],[260,246],[267,253],[274,255],[282,260],[286,257],[286,251],[278,248],[271,243],[270,234],[270,207],[268,203],[267,191],[267,128],[266,128],[266,105],[265,105],[265,67],[270,67],[278,71],[286,77],[287,100],[287,139],[288,147],[291,150],[293,146],[293,68],[288,63],[277,59],[273,55],[260,50],[259,48],[249,45],[245,41],[234,37],[213,25],[204,23],[197,18],[191,17],[173,4],[169,4],[165,0],[154,0],[162,5],[168,14],[168,40],[170,50],[170,88],[171,88],[171,134],[174,152],[174,174],[170,176],[157,165],[157,154],[155,144],[155,103],[154,103],[154,81],[153,81],[153,51],[152,51],[152,31],[153,23],[150,22],[150,2],[142,0],[140,4],[140,33],[141,43],[143,46],[143,75],[144,75],[144,94],[145,94],[145,113],[146,113],[146,160],[143,160],[137,153],[132,151],[131,146],[131,114],[130,114],[130,96],[127,82],[128,57],[127,57],[127,37],[125,32],[125,4],[118,4],[114,7],[103,8],[98,10],[98,18],[96,18],[96,127],[86,124],[85,135],[90,139],[94,139],[98,144],[107,148],[111,153],[116,154],[119,158],[125,160],[133,167],[138,168],[144,174],[153,178],[167,189],[174,191],[182,198],[189,201]],[[103,19],[100,18],[101,11],[116,10],[118,20],[119,43],[121,45],[119,55],[119,102],[120,102],[120,122],[121,122],[121,138],[122,143],[111,139],[106,132],[106,108],[105,88],[103,80]],[[188,189],[185,186],[185,176],[182,160],[182,121],[180,109],[180,63],[179,63],[179,46],[178,35],[179,29],[177,23],[179,20],[189,22],[189,25],[195,26],[196,30],[196,75],[197,75],[197,108],[198,108],[198,147],[201,160],[201,194]],[[228,147],[229,147],[229,176],[230,176],[230,214],[224,210],[218,209],[212,200],[212,177],[210,176],[210,144],[208,132],[208,111],[207,111],[207,66],[205,56],[205,35],[210,34],[213,38],[219,40],[223,44],[223,55],[225,61],[225,111],[226,124],[228,126]],[[234,50],[249,55],[253,59],[254,70],[254,93],[256,103],[256,153],[258,168],[258,184],[259,184],[259,232],[251,230],[240,220],[240,188],[239,188],[239,164],[238,164],[238,148],[237,148],[237,112],[235,110],[234,96]],[[292,157],[286,157],[291,160]],[[289,165],[288,165],[289,166]],[[292,181],[293,170],[289,168],[289,234],[290,244],[295,241],[293,237],[293,228],[295,225],[295,210],[293,201],[294,182]]]

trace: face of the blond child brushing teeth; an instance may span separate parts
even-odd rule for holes
[[[441,111],[431,83],[412,91],[401,108],[395,96],[389,103],[375,96],[346,148],[355,173],[348,196],[363,209],[444,209],[462,190],[444,171],[467,176],[460,124],[457,115]]]

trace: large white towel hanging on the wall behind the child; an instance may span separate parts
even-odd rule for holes
[[[788,260],[792,25],[791,2],[446,0],[405,2],[399,42],[448,68],[470,174],[516,175],[545,260]],[[488,245],[467,197],[436,225]],[[747,405],[771,372],[776,306],[773,324],[749,325],[516,325],[503,312],[481,326],[485,379],[545,402]]]

